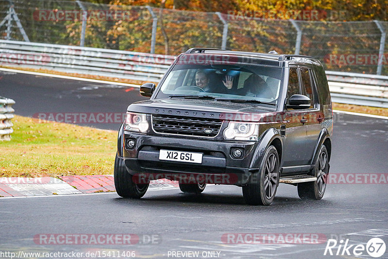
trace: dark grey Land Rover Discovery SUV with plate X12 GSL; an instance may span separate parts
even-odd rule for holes
[[[333,113],[318,60],[194,48],[140,93],[151,98],[128,106],[118,133],[120,196],[141,198],[150,180],[167,178],[194,194],[241,186],[251,205],[270,205],[279,182],[323,197]]]

